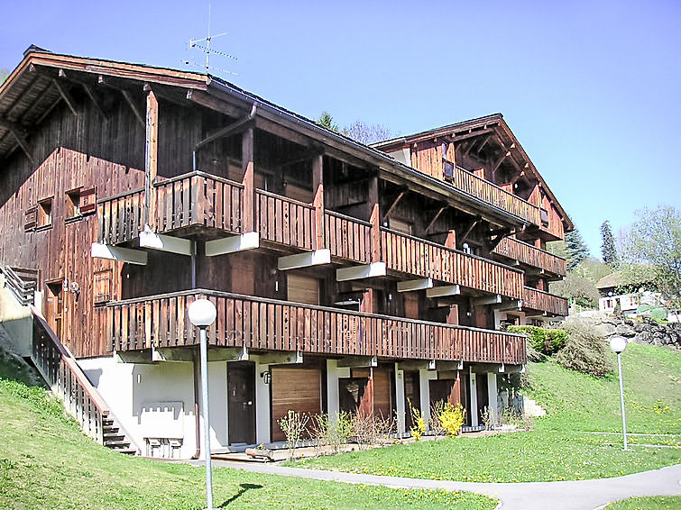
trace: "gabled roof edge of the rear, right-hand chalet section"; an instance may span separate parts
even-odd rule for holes
[[[534,166],[532,160],[529,159],[529,156],[522,148],[520,141],[518,141],[515,134],[511,132],[511,128],[506,121],[504,121],[502,114],[485,115],[476,119],[448,124],[446,126],[438,127],[428,131],[417,132],[407,136],[393,138],[391,140],[380,141],[378,143],[374,143],[372,147],[390,152],[391,150],[397,150],[400,147],[410,143],[432,140],[434,138],[448,137],[456,142],[457,140],[469,139],[474,136],[485,136],[488,134],[492,134],[492,136],[497,137],[502,147],[504,147],[506,150],[515,151],[517,159],[527,163],[525,170],[531,177],[538,180],[539,185],[544,189],[551,202],[556,205],[558,214],[560,214],[561,218],[566,223],[566,232],[574,230],[575,225],[572,223],[572,220],[570,220],[570,217],[567,215],[565,209],[563,209],[563,206],[557,201],[556,196],[548,187],[547,182],[543,177],[541,177],[541,174],[539,174],[538,169]]]

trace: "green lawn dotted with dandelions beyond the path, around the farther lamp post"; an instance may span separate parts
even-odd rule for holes
[[[529,433],[414,442],[299,462],[308,468],[480,482],[616,477],[681,461],[681,354],[631,344],[625,351],[630,451],[621,450],[619,383],[562,369],[529,366],[526,393],[545,406]],[[593,431],[612,432],[594,434]],[[664,434],[664,435],[662,435]],[[648,448],[641,444],[666,448]],[[668,446],[672,446],[668,448]]]

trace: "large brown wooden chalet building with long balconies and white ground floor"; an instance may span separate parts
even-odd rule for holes
[[[289,409],[404,432],[407,398],[476,426],[526,362],[499,324],[567,313],[545,243],[573,225],[501,114],[367,147],[217,77],[31,47],[0,87],[0,183],[32,359],[143,454],[198,455],[199,296],[222,448],[281,440]]]

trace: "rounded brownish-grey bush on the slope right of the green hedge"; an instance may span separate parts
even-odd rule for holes
[[[554,357],[559,365],[596,377],[612,371],[607,343],[592,324],[568,319],[563,329],[567,332],[567,342]]]

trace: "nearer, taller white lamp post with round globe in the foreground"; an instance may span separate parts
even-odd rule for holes
[[[208,348],[206,328],[216,320],[216,306],[207,299],[197,299],[189,305],[189,322],[200,330],[201,408],[203,410],[204,444],[206,451],[207,510],[213,510],[213,467],[210,463],[210,417],[208,414]]]

